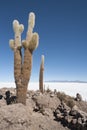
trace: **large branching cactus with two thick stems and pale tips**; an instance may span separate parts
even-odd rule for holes
[[[15,33],[14,40],[10,40],[10,47],[14,51],[14,78],[17,89],[17,102],[26,104],[26,93],[28,82],[30,80],[32,68],[32,54],[38,47],[39,36],[33,33],[35,25],[35,14],[29,14],[28,30],[26,40],[21,42],[21,33],[24,26],[19,24],[17,20],[13,21],[13,29]],[[24,59],[22,58],[21,48],[24,47]]]

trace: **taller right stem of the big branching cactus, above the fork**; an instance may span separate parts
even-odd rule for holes
[[[32,68],[32,54],[34,49],[38,46],[38,34],[33,33],[33,28],[35,25],[35,14],[30,13],[28,19],[28,30],[26,35],[26,40],[22,41],[24,47],[24,63],[22,66],[22,75],[23,79],[26,79],[29,82]]]

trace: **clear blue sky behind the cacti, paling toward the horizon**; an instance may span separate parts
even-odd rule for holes
[[[31,81],[38,81],[41,55],[45,56],[44,80],[87,81],[87,0],[1,0],[0,1],[0,82],[14,81],[12,22],[24,24],[36,14],[34,31],[39,47],[33,53]]]

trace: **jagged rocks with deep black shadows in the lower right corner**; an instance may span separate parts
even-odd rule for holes
[[[87,130],[87,113],[74,107],[67,108],[64,103],[61,103],[54,112],[57,121],[71,130]]]

